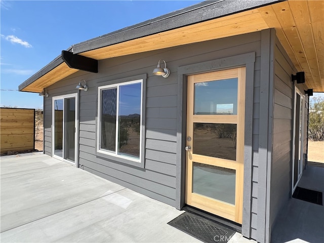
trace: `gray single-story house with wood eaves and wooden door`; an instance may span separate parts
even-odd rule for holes
[[[294,16],[294,4],[289,2],[291,9],[287,12]],[[268,27],[259,25],[253,30],[251,24],[249,31],[241,26],[241,32],[228,26],[227,36],[220,37],[212,36],[211,26],[222,28],[228,21],[247,16],[247,22],[258,22],[252,15],[263,16],[282,9],[280,5],[287,6],[287,2],[207,1],[72,46],[70,53],[89,60],[76,61],[80,67],[75,68],[62,54],[19,86],[20,91],[49,94],[44,97],[44,153],[179,210],[191,206],[197,212],[219,216],[247,238],[271,241],[276,218],[291,198],[307,163],[305,90],[322,92],[324,85],[322,79],[311,79],[307,69],[294,63],[280,39],[286,32],[269,22],[264,21]],[[318,6],[322,8],[322,4]],[[237,20],[234,22],[238,24]],[[199,24],[197,29],[188,28],[195,24]],[[177,36],[173,40],[163,37],[173,36],[172,31],[181,28],[185,28],[182,43],[178,43]],[[185,36],[198,29],[207,32],[196,38]],[[164,44],[154,41],[156,34],[161,34],[159,40]],[[132,42],[141,38],[143,46],[134,46]],[[170,69],[166,78],[152,74],[160,59]],[[91,60],[97,61],[97,72],[82,67]],[[161,66],[165,66],[163,62]],[[236,73],[236,69],[238,75],[232,77],[230,73]],[[322,73],[323,67],[318,65],[318,70]],[[305,71],[305,83],[292,80],[292,74],[299,71]],[[212,75],[212,79],[205,74]],[[210,107],[214,98],[208,98],[208,105],[204,101],[200,104],[204,108],[199,108],[198,90],[208,96],[209,89],[204,87],[212,87],[213,82],[220,80],[229,84],[232,79],[236,80],[233,102],[228,97],[217,101],[221,93],[231,96],[233,88],[225,87],[220,93],[210,88],[216,92],[211,95],[216,97],[214,108]],[[88,90],[76,90],[79,82],[86,84]],[[133,90],[127,91],[128,88]],[[131,101],[123,98],[130,96]],[[124,102],[136,106],[132,110],[136,112],[124,114]],[[226,112],[219,111],[224,107]],[[108,115],[115,120],[111,122]],[[225,140],[234,141],[232,152],[210,151],[218,148],[208,141],[221,139],[219,124],[226,131],[236,129],[234,140],[233,133],[222,140],[222,144]],[[126,137],[123,131],[127,131]],[[115,137],[110,139],[112,135]],[[211,146],[208,152],[207,146]],[[201,156],[194,157],[195,153]],[[234,178],[224,179],[226,184],[232,183],[233,199],[231,195],[208,194],[211,188],[225,187],[221,183],[208,186],[203,181],[204,188],[199,188],[199,175],[208,178],[209,183],[215,182],[211,175]],[[200,203],[198,197],[204,193],[208,200],[212,198],[211,205]],[[213,207],[220,209],[214,211]]]

